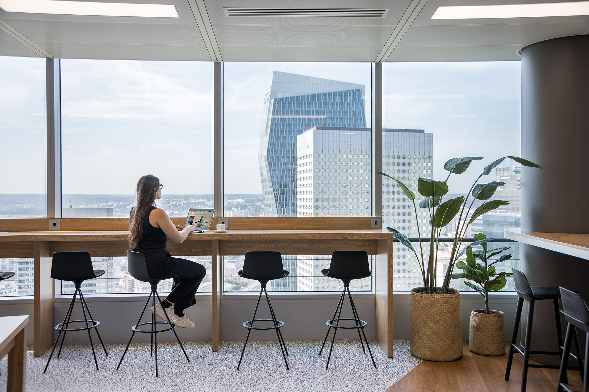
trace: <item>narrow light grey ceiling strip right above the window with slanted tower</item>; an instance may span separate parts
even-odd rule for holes
[[[219,46],[224,61],[370,62],[380,46]]]

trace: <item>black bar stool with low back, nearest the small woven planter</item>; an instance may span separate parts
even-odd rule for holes
[[[524,273],[512,268],[512,272],[514,273],[514,280],[515,280],[515,291],[517,292],[519,298],[517,302],[517,309],[515,310],[515,320],[514,320],[514,330],[511,336],[511,346],[509,346],[509,356],[507,358],[507,369],[505,370],[505,380],[509,380],[509,373],[511,372],[511,363],[513,361],[514,352],[517,351],[519,354],[524,356],[524,367],[522,369],[521,375],[521,392],[525,392],[526,383],[528,380],[528,367],[541,367],[541,368],[548,368],[548,369],[558,369],[560,366],[556,365],[536,365],[530,364],[530,354],[547,354],[547,355],[558,355],[562,360],[562,329],[560,326],[560,308],[558,307],[558,299],[560,298],[560,290],[558,287],[550,287],[550,286],[530,286],[528,283],[528,279],[525,277]],[[556,321],[556,333],[557,333],[557,340],[558,340],[558,351],[531,351],[530,350],[530,342],[532,337],[532,321],[534,320],[534,303],[535,301],[540,300],[552,300],[552,305],[554,306],[554,317]],[[519,329],[519,320],[521,319],[521,310],[524,306],[524,300],[528,301],[528,323],[525,330],[525,343],[524,347],[518,347],[515,344],[515,339],[517,339],[517,333]],[[579,346],[577,335],[575,334],[575,343],[577,344],[577,348]],[[521,345],[521,342],[520,342]],[[577,351],[580,352],[580,351]],[[576,356],[571,354],[575,359]],[[570,369],[578,369],[578,367],[570,367]],[[581,374],[583,377],[583,374]]]

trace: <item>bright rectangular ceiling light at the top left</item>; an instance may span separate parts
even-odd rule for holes
[[[63,0],[0,0],[6,12],[30,14],[144,16],[148,18],[180,18],[173,4],[98,3]]]

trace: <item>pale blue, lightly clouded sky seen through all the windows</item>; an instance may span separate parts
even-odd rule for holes
[[[130,195],[145,174],[168,194],[212,193],[211,62],[61,66],[63,193]],[[274,70],[365,85],[370,126],[369,63],[226,62],[226,193],[262,193],[257,150]],[[0,164],[11,167],[0,193],[44,193],[44,59],[0,56],[0,72]],[[519,156],[520,73],[519,62],[384,63],[383,124],[434,134],[434,179],[448,159],[485,157],[449,180],[452,193],[468,192],[482,167]]]

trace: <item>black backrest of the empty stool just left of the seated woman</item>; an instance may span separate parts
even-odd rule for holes
[[[92,259],[88,252],[54,252],[51,262],[51,277],[59,280],[82,282],[95,279]]]

